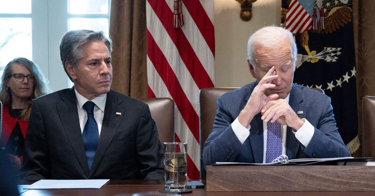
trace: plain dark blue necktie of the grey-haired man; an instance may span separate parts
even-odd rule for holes
[[[94,106],[95,103],[91,101],[87,101],[83,105],[83,108],[87,112],[87,121],[85,127],[83,128],[82,137],[83,143],[85,145],[87,164],[89,165],[89,169],[91,169],[91,166],[93,164],[95,150],[96,146],[98,145],[99,139],[98,124],[96,124],[94,118]]]

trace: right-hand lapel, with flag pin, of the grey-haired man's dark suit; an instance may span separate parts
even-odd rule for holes
[[[89,178],[91,177],[96,167],[98,167],[98,164],[102,160],[124,116],[123,114],[116,115],[116,112],[124,112],[118,106],[121,102],[122,100],[118,99],[118,97],[115,96],[112,90],[110,90],[110,92],[107,93],[107,101],[105,103],[102,129],[99,136],[98,147],[96,147],[93,165],[90,169]]]

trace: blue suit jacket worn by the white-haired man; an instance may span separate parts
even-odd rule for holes
[[[219,109],[213,130],[204,144],[204,168],[215,162],[263,162],[263,121],[261,113],[250,122],[250,135],[242,144],[234,134],[231,123],[245,107],[257,82],[229,91],[217,99]],[[286,154],[289,159],[333,158],[351,156],[336,127],[331,99],[323,93],[292,84],[289,105],[299,118],[306,118],[314,126],[314,135],[305,148],[297,140],[292,128],[287,127]]]

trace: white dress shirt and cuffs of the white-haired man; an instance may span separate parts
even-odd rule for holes
[[[289,103],[289,96],[285,98],[285,100]],[[267,98],[266,95],[263,94],[264,99]],[[300,143],[307,147],[309,145],[309,142],[314,135],[314,127],[310,124],[308,120],[305,118],[302,119],[305,121],[302,125],[302,127],[297,131],[294,132],[294,136],[296,136],[297,140],[300,141]],[[238,117],[232,122],[232,129],[234,134],[236,134],[237,138],[240,140],[240,142],[243,144],[245,143],[245,140],[250,135],[250,125],[245,128],[242,126],[242,124],[238,121]],[[287,125],[282,125],[281,131],[282,131],[282,154],[285,155],[285,148],[286,148],[286,140],[287,140]],[[267,122],[263,121],[263,163],[266,163],[266,150],[267,150]]]

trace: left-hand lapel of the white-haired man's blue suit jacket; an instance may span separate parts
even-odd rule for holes
[[[252,91],[257,85],[258,83],[255,83],[252,86],[252,89],[250,89],[249,94],[245,98],[245,104],[243,105],[243,107],[245,107]],[[261,117],[261,113],[258,113],[250,122],[249,139],[255,163],[263,163],[263,121],[260,119]]]

